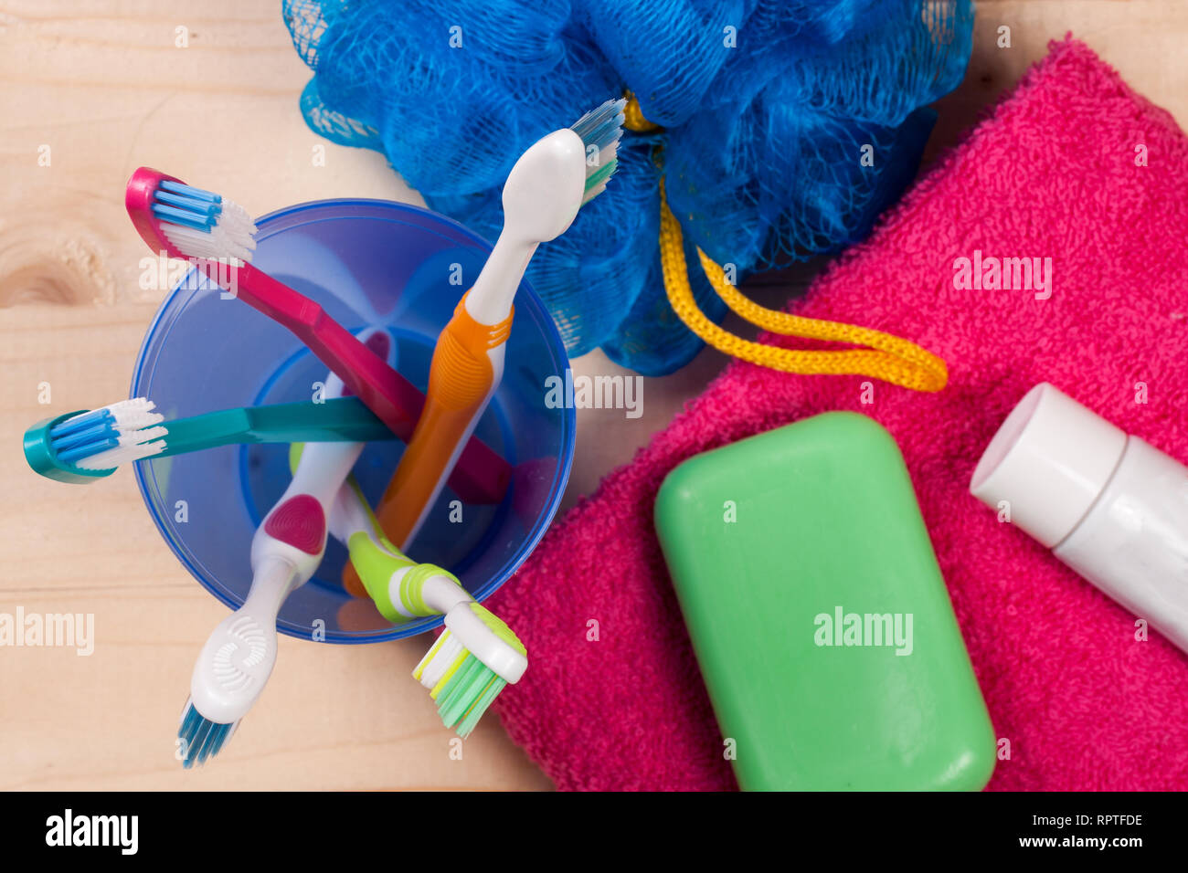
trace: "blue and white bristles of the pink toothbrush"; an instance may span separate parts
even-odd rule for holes
[[[162,182],[152,213],[165,239],[188,258],[233,266],[252,260],[255,224],[238,203],[181,182]]]

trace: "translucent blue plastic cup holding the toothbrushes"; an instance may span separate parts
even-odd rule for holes
[[[303,203],[257,222],[252,262],[320,303],[350,330],[384,327],[397,368],[424,391],[437,334],[474,283],[491,247],[450,219],[387,201]],[[289,330],[191,273],[162,304],[132,377],[166,418],[232,406],[314,398],[327,368]],[[512,466],[499,505],[461,504],[446,488],[409,549],[455,572],[482,600],[516,571],[544,534],[574,456],[574,411],[546,403],[564,378],[564,344],[524,283],[507,341],[503,381],[476,434]],[[355,475],[379,500],[404,444],[371,443]],[[289,483],[289,447],[228,445],[138,462],[148,513],[185,568],[228,607],[252,582],[252,534]],[[411,637],[441,618],[392,625],[339,581],[346,550],[333,539],[321,567],[280,609],[277,628],[327,643]]]

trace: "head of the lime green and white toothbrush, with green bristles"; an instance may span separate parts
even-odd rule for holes
[[[474,601],[446,613],[446,631],[412,677],[437,701],[446,727],[466,739],[499,692],[527,670],[527,650],[489,609]]]

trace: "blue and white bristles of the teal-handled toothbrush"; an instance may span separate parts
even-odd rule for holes
[[[144,397],[80,412],[50,430],[59,461],[84,470],[109,470],[165,450],[169,430],[156,404]]]

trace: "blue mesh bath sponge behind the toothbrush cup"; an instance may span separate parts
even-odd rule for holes
[[[284,17],[314,70],[310,127],[384,152],[489,239],[516,158],[633,94],[651,124],[527,278],[571,355],[652,375],[702,346],[661,279],[662,176],[693,264],[700,247],[741,279],[857,242],[915,175],[973,27],[971,0],[285,0]]]

